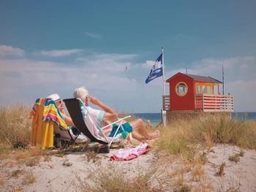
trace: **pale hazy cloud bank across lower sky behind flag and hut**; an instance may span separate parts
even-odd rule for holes
[[[65,54],[68,53],[62,53]],[[138,55],[135,54],[81,52],[76,56],[79,58],[65,64],[28,58],[0,58],[0,104],[20,99],[31,103],[37,97],[51,93],[69,98],[74,88],[86,85],[92,95],[121,112],[160,112],[162,77],[145,84],[154,61],[136,63],[134,60]],[[222,80],[224,64],[225,93],[235,96],[235,110],[256,111],[255,61],[252,56],[205,58],[192,62],[189,74]],[[125,66],[129,66],[128,71]],[[186,72],[186,69],[166,71],[166,79],[176,72]],[[168,88],[166,90],[168,92]]]

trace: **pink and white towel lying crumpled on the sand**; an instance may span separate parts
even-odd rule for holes
[[[152,147],[148,146],[147,143],[140,143],[140,145],[134,148],[118,150],[116,154],[110,156],[110,159],[115,161],[130,161],[134,158],[137,158],[139,155],[148,153],[148,151],[151,150]]]

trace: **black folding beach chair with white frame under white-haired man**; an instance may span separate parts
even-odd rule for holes
[[[124,119],[130,118],[131,115],[128,115],[127,117],[124,118],[119,118],[115,122],[109,124],[108,126],[113,126],[114,123],[119,123],[118,128],[116,130],[116,133],[114,134],[113,137],[106,137],[105,134],[103,133],[103,129],[107,128],[108,126],[105,127],[100,127],[100,125],[97,124],[97,120],[93,118],[89,110],[87,112],[89,113],[89,117],[94,120],[94,125],[97,127],[97,129],[100,131],[103,137],[99,137],[92,133],[92,131],[86,126],[85,121],[83,120],[83,115],[81,112],[80,104],[83,104],[83,101],[80,99],[72,98],[72,99],[64,99],[63,100],[67,110],[69,112],[70,117],[72,118],[73,123],[75,124],[75,127],[78,128],[79,131],[81,131],[88,139],[91,140],[91,142],[99,142],[100,144],[105,144],[110,147],[112,142],[119,142],[120,141],[120,134],[116,135],[118,132],[118,129],[121,128],[124,131],[124,128],[121,126],[122,121]],[[83,104],[84,106],[84,104]],[[86,107],[86,106],[84,106]]]

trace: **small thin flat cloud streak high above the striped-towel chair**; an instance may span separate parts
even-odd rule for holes
[[[80,49],[72,49],[72,50],[41,50],[39,51],[40,55],[47,57],[63,57],[69,56],[75,53],[81,53],[83,50]]]

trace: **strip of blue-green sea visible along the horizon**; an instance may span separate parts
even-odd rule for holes
[[[150,120],[153,126],[157,126],[162,120],[161,113],[135,113],[133,115],[145,121]],[[256,112],[232,112],[231,117],[241,120],[256,120]]]

